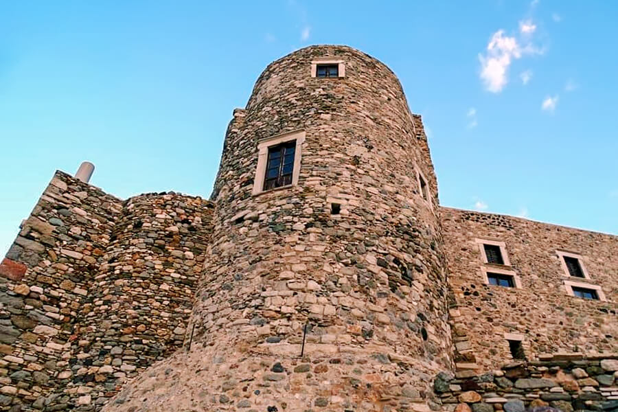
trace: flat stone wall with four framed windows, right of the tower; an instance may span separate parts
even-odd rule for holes
[[[618,352],[616,236],[444,207],[441,214],[460,376],[511,361],[505,334],[523,336],[529,359],[556,352]],[[505,242],[521,288],[483,282],[481,268],[501,267],[481,262],[475,238]],[[565,275],[558,250],[582,255],[591,279]],[[567,295],[569,281],[600,286],[606,301]]]

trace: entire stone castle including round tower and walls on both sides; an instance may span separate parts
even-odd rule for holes
[[[0,264],[2,411],[618,410],[618,237],[439,206],[362,52],[271,63],[210,201],[90,172]]]

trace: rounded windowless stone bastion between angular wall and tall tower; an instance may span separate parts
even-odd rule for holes
[[[101,407],[179,350],[211,232],[211,203],[181,194],[124,202],[76,325],[62,395]]]

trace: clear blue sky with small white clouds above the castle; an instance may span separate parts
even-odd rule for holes
[[[232,110],[299,47],[347,44],[423,115],[442,205],[618,234],[618,3],[0,3],[0,255],[54,170],[209,196]]]

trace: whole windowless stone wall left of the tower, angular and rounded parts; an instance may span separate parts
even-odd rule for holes
[[[0,265],[0,410],[98,409],[181,347],[211,210],[56,172]]]

